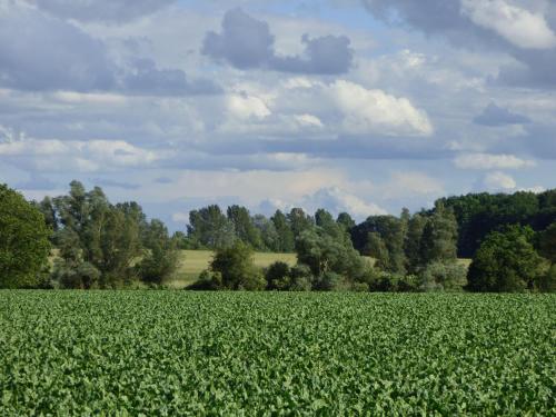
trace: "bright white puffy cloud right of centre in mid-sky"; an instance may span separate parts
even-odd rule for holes
[[[434,132],[427,113],[406,98],[368,90],[346,80],[334,82],[329,93],[344,112],[344,127],[350,133],[429,136]]]

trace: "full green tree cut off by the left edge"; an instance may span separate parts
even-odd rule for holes
[[[0,288],[40,286],[50,254],[44,217],[6,185],[0,185]]]

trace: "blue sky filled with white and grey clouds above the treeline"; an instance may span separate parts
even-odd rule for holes
[[[554,0],[0,0],[0,182],[183,229],[556,187]]]

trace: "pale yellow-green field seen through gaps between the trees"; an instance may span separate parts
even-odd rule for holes
[[[173,288],[183,288],[193,282],[203,269],[209,267],[214,252],[210,250],[181,250],[181,257],[176,277],[169,282]],[[255,265],[258,267],[268,267],[270,264],[281,260],[289,265],[297,261],[296,254],[272,254],[256,252],[254,256]]]

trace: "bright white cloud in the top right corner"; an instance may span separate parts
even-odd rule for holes
[[[556,47],[556,34],[545,17],[505,0],[461,0],[461,12],[474,23],[524,49]]]

